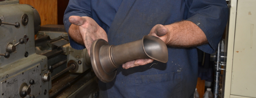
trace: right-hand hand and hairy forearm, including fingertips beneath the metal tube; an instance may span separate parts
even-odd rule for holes
[[[195,47],[208,43],[204,32],[191,21],[181,21],[169,25],[155,25],[148,35],[156,36],[164,41],[166,45],[173,47]],[[153,59],[139,59],[126,62],[123,68],[146,65]]]

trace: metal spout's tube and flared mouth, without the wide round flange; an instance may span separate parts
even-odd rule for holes
[[[163,63],[168,61],[165,43],[160,38],[149,35],[140,40],[113,46],[111,55],[117,67],[137,59],[154,59]]]

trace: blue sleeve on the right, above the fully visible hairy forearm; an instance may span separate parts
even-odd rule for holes
[[[214,53],[225,30],[228,20],[228,6],[225,0],[187,0],[186,20],[198,25],[205,33],[209,44],[197,48]]]

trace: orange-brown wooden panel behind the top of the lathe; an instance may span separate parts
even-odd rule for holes
[[[36,8],[41,18],[41,25],[58,24],[57,0],[19,0],[19,3]]]

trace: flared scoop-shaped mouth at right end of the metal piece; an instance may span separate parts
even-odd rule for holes
[[[166,63],[168,61],[167,46],[160,38],[146,35],[142,38],[144,52],[148,57],[156,61]]]

